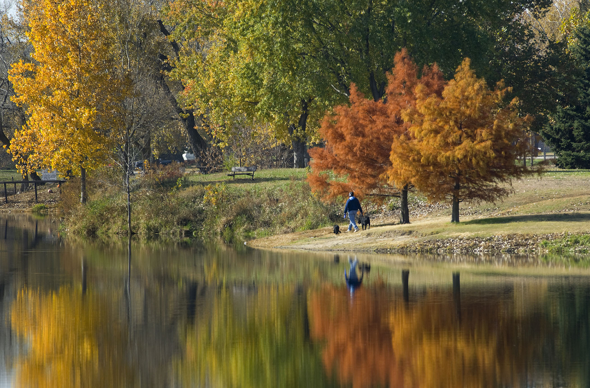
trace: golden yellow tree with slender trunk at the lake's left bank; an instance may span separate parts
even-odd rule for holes
[[[10,71],[14,101],[29,115],[9,147],[17,167],[79,175],[81,202],[86,202],[86,173],[109,152],[109,133],[125,94],[113,71],[114,37],[105,5],[23,0],[34,61],[20,61]]]

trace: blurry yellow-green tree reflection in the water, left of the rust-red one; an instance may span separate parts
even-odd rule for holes
[[[181,386],[326,387],[309,340],[303,287],[211,288],[185,353],[175,362]],[[195,383],[196,382],[196,383]]]

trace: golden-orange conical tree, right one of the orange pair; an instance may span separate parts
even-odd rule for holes
[[[507,196],[512,189],[501,183],[528,171],[516,158],[528,146],[519,137],[529,122],[516,98],[503,104],[509,88],[499,83],[491,91],[466,58],[441,97],[422,86],[415,91],[415,106],[402,114],[408,137],[393,138],[389,182],[411,181],[429,200],[451,200],[451,222],[459,222],[464,200]]]

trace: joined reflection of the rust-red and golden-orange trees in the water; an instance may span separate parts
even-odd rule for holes
[[[310,295],[311,334],[326,370],[353,387],[523,386],[553,337],[535,313],[538,295],[458,300],[432,290],[406,304],[385,287],[361,288],[352,300],[345,288],[324,287]]]

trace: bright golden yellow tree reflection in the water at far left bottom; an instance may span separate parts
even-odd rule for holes
[[[127,387],[133,373],[122,350],[125,330],[97,295],[61,287],[42,294],[21,290],[12,328],[25,339],[16,384],[22,387]]]

